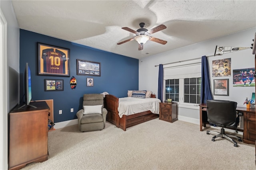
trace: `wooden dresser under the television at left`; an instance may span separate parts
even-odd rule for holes
[[[9,169],[18,170],[30,162],[48,159],[48,105],[14,108],[10,113]]]

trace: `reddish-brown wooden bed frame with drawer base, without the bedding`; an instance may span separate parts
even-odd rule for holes
[[[156,95],[151,94],[150,98],[156,98]],[[126,131],[126,128],[128,127],[159,117],[159,114],[154,114],[148,110],[133,115],[123,115],[122,118],[120,118],[118,115],[118,104],[119,101],[116,96],[111,94],[105,96],[104,107],[108,110],[106,120],[124,131]]]

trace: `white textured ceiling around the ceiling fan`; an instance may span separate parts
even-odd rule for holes
[[[12,1],[21,29],[96,49],[141,59],[201,41],[256,27],[255,0],[56,0]],[[166,29],[151,36],[166,45],[147,41],[138,51],[133,30],[146,23]]]

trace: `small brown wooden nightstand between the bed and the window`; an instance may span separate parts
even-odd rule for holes
[[[174,122],[178,120],[178,109],[177,103],[174,102],[166,102],[166,103],[159,103],[159,119]]]

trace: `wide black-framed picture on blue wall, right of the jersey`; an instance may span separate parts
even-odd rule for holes
[[[77,75],[100,76],[100,63],[77,59],[76,67]]]

